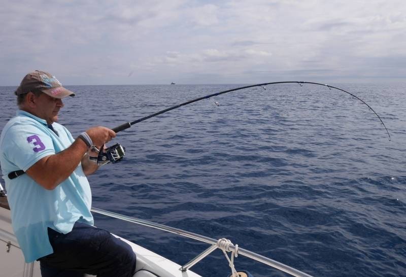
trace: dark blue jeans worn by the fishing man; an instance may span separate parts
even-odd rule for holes
[[[42,277],[131,277],[136,254],[108,231],[76,222],[71,232],[48,228],[54,253],[39,259]]]

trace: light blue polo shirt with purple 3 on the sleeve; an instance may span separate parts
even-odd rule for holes
[[[93,225],[90,186],[80,163],[53,190],[46,190],[27,174],[12,180],[7,177],[11,171],[26,171],[43,157],[59,153],[74,142],[65,127],[58,123],[52,126],[59,136],[44,119],[19,110],[0,137],[0,163],[11,221],[27,263],[53,253],[48,227],[66,234],[78,220]]]

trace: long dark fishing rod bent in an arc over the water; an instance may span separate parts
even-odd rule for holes
[[[199,97],[199,98],[196,98],[196,99],[193,99],[193,100],[189,100],[189,101],[186,101],[186,102],[183,102],[183,103],[179,103],[179,105],[176,105],[176,106],[173,106],[173,107],[164,109],[164,110],[162,110],[162,111],[159,111],[159,112],[156,112],[156,113],[154,113],[154,114],[145,116],[145,117],[143,117],[143,118],[134,120],[134,121],[132,121],[132,122],[127,122],[127,123],[121,124],[120,126],[117,126],[117,127],[113,128],[112,130],[117,133],[117,132],[120,132],[120,131],[122,131],[122,130],[125,130],[125,129],[131,127],[131,126],[134,125],[134,124],[137,124],[137,123],[140,123],[140,122],[142,122],[142,121],[144,121],[144,120],[147,120],[147,119],[149,119],[149,118],[151,118],[151,117],[155,117],[155,116],[157,116],[157,115],[161,115],[161,114],[163,114],[163,113],[166,113],[166,112],[169,112],[169,111],[178,109],[178,108],[180,108],[180,107],[182,107],[182,106],[189,105],[190,103],[197,102],[197,101],[200,101],[200,100],[203,100],[203,99],[208,99],[208,98],[211,98],[211,97],[213,97],[213,96],[217,96],[217,95],[224,94],[224,93],[227,93],[227,92],[236,91],[236,90],[241,90],[241,89],[246,89],[246,88],[252,88],[252,87],[262,87],[263,89],[266,89],[266,88],[265,88],[266,85],[291,84],[291,83],[296,83],[296,84],[299,84],[300,86],[303,86],[302,84],[313,84],[313,85],[326,86],[326,87],[329,88],[329,90],[331,90],[331,89],[333,88],[333,89],[336,89],[336,90],[339,90],[339,91],[343,91],[343,92],[345,92],[345,93],[348,93],[348,94],[351,95],[352,97],[354,97],[354,98],[360,100],[362,103],[364,103],[364,104],[369,108],[369,110],[371,110],[371,111],[374,112],[374,114],[375,114],[375,115],[378,117],[378,119],[381,121],[381,124],[384,126],[384,128],[385,128],[385,130],[386,130],[386,133],[388,134],[389,141],[391,140],[391,137],[390,137],[388,128],[386,128],[386,125],[385,125],[385,123],[382,121],[381,117],[380,117],[380,116],[375,112],[375,110],[372,109],[364,100],[362,100],[362,99],[359,98],[358,96],[354,95],[353,93],[348,92],[348,91],[346,91],[346,90],[344,90],[344,89],[341,89],[341,88],[333,87],[333,86],[326,85],[326,84],[320,84],[320,83],[314,83],[314,82],[303,82],[303,81],[284,81],[284,82],[263,83],[263,84],[249,85],[249,86],[238,87],[238,88],[233,88],[233,89],[228,89],[228,90],[216,92],[216,93],[209,94],[209,95],[206,95],[206,96],[202,96],[202,97]],[[218,105],[217,102],[216,102],[216,105]]]

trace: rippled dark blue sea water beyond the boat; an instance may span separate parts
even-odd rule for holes
[[[406,84],[255,87],[119,132],[125,159],[89,177],[93,206],[234,244],[315,276],[406,276]],[[241,85],[68,86],[74,135]],[[0,129],[15,115],[0,87]],[[217,106],[217,101],[220,106]],[[208,246],[95,215],[97,226],[184,264]],[[255,277],[287,276],[239,256]],[[192,270],[228,276],[221,251]]]

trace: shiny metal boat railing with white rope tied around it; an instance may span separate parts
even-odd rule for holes
[[[136,224],[139,224],[139,225],[144,225],[144,226],[148,226],[148,227],[151,227],[151,228],[159,229],[159,230],[162,230],[162,231],[178,234],[178,235],[185,236],[185,237],[188,237],[188,238],[192,238],[192,239],[195,239],[195,240],[199,240],[199,241],[202,241],[204,243],[207,243],[207,244],[211,245],[204,252],[200,253],[197,257],[195,257],[190,262],[188,262],[187,264],[182,266],[182,268],[180,268],[182,271],[186,271],[188,268],[190,268],[191,266],[193,266],[198,261],[205,258],[207,255],[209,255],[211,252],[213,252],[214,250],[216,250],[218,248],[218,246],[217,246],[218,245],[218,240],[216,240],[214,238],[210,238],[210,237],[207,237],[207,236],[202,236],[202,235],[195,234],[195,233],[192,233],[192,232],[189,232],[189,231],[173,228],[173,227],[162,225],[162,224],[159,224],[159,223],[150,222],[150,221],[147,221],[147,220],[132,218],[132,217],[128,217],[128,216],[108,212],[108,211],[105,211],[105,210],[96,209],[94,207],[91,208],[91,211],[94,212],[94,213],[97,213],[97,214],[101,214],[101,215],[105,215],[105,216],[109,216],[109,217],[129,221],[129,222],[132,222],[132,223],[136,223]],[[231,252],[238,251],[238,254],[240,254],[240,255],[251,258],[253,260],[256,260],[258,262],[266,264],[268,266],[272,266],[272,267],[277,268],[277,269],[279,269],[281,271],[289,273],[289,274],[291,274],[293,276],[312,277],[311,275],[309,275],[307,273],[304,273],[304,272],[302,272],[300,270],[297,270],[297,269],[295,269],[293,267],[290,267],[290,266],[285,265],[283,263],[274,261],[272,259],[261,256],[259,254],[254,253],[254,252],[245,250],[243,248],[235,247],[232,244],[228,247],[228,251],[231,251]]]

